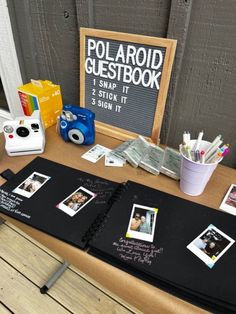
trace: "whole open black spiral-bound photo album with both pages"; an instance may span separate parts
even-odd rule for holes
[[[36,157],[0,211],[214,312],[236,312],[236,217]]]

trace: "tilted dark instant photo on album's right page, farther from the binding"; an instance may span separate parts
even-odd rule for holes
[[[212,268],[234,242],[235,240],[211,224],[187,246],[187,249]]]

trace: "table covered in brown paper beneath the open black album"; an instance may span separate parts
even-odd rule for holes
[[[95,164],[80,158],[80,156],[87,151],[89,147],[65,143],[56,133],[55,127],[47,129],[46,143],[46,149],[41,155],[42,157],[113,181],[124,182],[127,180],[133,180],[215,209],[219,208],[229,185],[231,183],[236,183],[236,170],[219,165],[204,193],[197,197],[191,197],[180,191],[179,182],[164,175],[156,177],[140,168],[135,169],[128,164],[123,168],[105,167],[103,158]],[[104,145],[108,148],[114,148],[120,144],[120,141],[102,134],[97,134],[96,143]],[[8,157],[4,150],[3,137],[1,137],[0,172],[6,168],[10,168],[12,171],[18,172],[34,158],[35,155]],[[4,180],[0,179],[0,184],[3,182]],[[142,312],[204,312],[202,309],[157,289],[67,243],[64,243],[12,218],[7,216],[4,217],[32,236],[34,239],[71,262],[83,273],[104,286],[106,289],[110,290],[112,293],[116,294],[128,304],[133,305]]]

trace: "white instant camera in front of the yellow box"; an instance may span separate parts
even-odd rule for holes
[[[9,156],[40,154],[44,151],[45,135],[39,110],[29,117],[5,121],[5,149]]]

